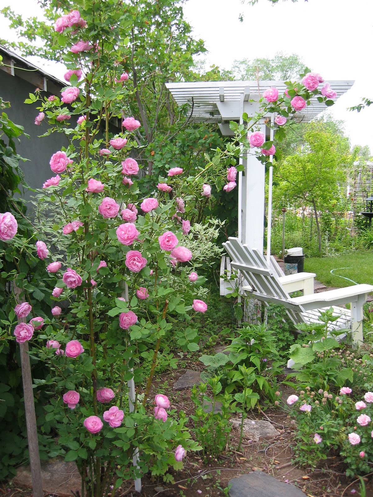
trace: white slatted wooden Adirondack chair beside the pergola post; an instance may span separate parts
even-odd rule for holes
[[[248,283],[242,289],[251,293],[253,298],[263,301],[266,305],[270,303],[283,305],[295,327],[298,323],[319,323],[320,312],[333,307],[333,314],[340,318],[332,323],[330,328],[351,328],[353,343],[355,345],[363,343],[363,306],[368,293],[373,292],[373,285],[348,286],[314,294],[314,273],[278,276],[258,249],[242,245],[237,238],[232,237],[223,246],[230,257],[231,267],[238,269]],[[305,276],[307,274],[308,277]],[[312,280],[312,292],[310,292],[310,280]],[[299,286],[299,282],[308,293],[304,293],[301,297],[290,298],[288,292],[294,291],[294,287]],[[338,307],[339,304],[346,303],[351,304],[351,311]]]

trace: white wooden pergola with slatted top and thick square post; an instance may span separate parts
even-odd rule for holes
[[[329,83],[339,98],[355,82],[329,81]],[[166,86],[178,105],[188,105],[191,121],[217,123],[223,136],[234,136],[234,132],[229,128],[229,121],[242,124],[244,112],[249,117],[253,117],[255,112],[259,111],[259,99],[266,89],[274,86],[281,94],[287,88],[283,81],[166,83]],[[320,84],[320,87],[322,86],[323,83]],[[312,98],[311,104],[292,118],[309,122],[326,108],[324,103]],[[274,118],[273,115],[267,117]],[[258,122],[257,129],[266,133],[267,139],[272,138],[264,119]],[[238,238],[249,247],[259,248],[263,252],[265,168],[251,151],[241,154],[240,164],[244,166],[244,172],[239,173],[238,179]],[[270,223],[270,212],[268,217]]]

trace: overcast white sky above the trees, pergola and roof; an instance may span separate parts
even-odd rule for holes
[[[25,16],[37,11],[36,0],[0,0],[0,8],[9,4]],[[194,37],[205,41],[208,65],[230,69],[234,59],[271,58],[282,51],[297,53],[325,81],[355,80],[331,112],[346,122],[352,145],[369,145],[373,153],[373,106],[346,111],[363,96],[373,99],[372,0],[280,0],[276,5],[259,0],[254,6],[240,0],[187,0],[184,12]],[[3,19],[0,29],[1,37],[10,38]],[[61,70],[45,70],[61,77]]]

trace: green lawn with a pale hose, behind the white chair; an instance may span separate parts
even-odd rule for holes
[[[334,274],[330,273],[332,269],[336,269]],[[373,251],[356,251],[333,257],[306,257],[304,271],[316,273],[316,279],[326,286],[344,287],[354,284],[336,274],[356,283],[373,285]]]

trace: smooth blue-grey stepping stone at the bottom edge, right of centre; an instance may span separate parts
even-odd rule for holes
[[[254,471],[229,480],[229,497],[304,497],[301,490],[273,476]]]

